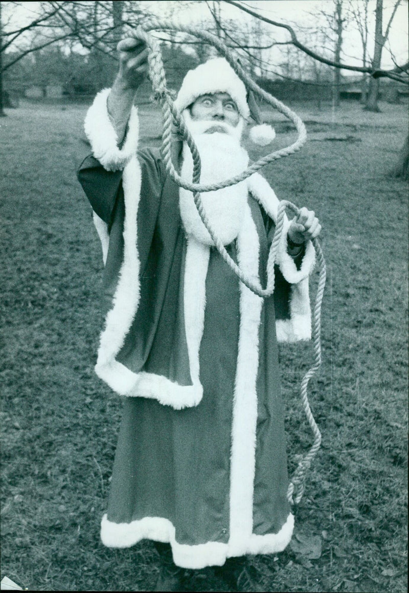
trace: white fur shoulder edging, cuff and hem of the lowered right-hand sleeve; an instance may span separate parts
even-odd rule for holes
[[[258,173],[248,180],[248,189],[264,210],[277,222],[279,199],[268,181]],[[301,267],[298,270],[291,256],[287,253],[287,231],[290,222],[285,216],[282,238],[277,252],[277,265],[282,275],[292,286],[290,288],[290,318],[276,321],[277,342],[298,342],[311,340],[311,304],[309,302],[308,277],[315,266],[315,249],[307,241]]]

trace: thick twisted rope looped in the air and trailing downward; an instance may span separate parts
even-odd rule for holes
[[[197,151],[196,144],[194,144],[194,140],[183,121],[183,117],[174,106],[171,91],[169,91],[167,88],[164,65],[162,62],[162,55],[158,40],[156,40],[147,32],[152,30],[183,31],[184,33],[188,33],[195,37],[201,37],[207,43],[210,43],[213,46],[215,46],[219,50],[219,52],[223,56],[225,56],[226,60],[229,62],[236,74],[239,76],[239,78],[242,79],[242,81],[245,82],[248,88],[254,91],[254,93],[263,98],[263,100],[266,101],[266,103],[270,104],[272,107],[280,111],[280,113],[285,115],[287,119],[291,120],[294,123],[298,132],[298,138],[296,139],[296,141],[290,146],[287,146],[286,148],[282,148],[280,150],[271,152],[271,154],[267,155],[266,157],[260,158],[257,162],[255,162],[253,165],[250,165],[250,167],[248,167],[241,174],[232,177],[231,179],[222,181],[221,183],[201,185],[201,165],[199,152]],[[228,266],[231,267],[231,269],[237,274],[241,282],[244,283],[244,285],[247,286],[247,288],[249,288],[259,297],[270,297],[274,292],[274,262],[276,261],[277,250],[279,248],[280,238],[283,232],[285,209],[289,208],[296,214],[298,214],[299,209],[291,202],[287,202],[286,200],[280,201],[277,213],[276,230],[274,232],[273,241],[270,247],[269,259],[267,260],[267,285],[266,288],[263,289],[260,285],[257,285],[257,283],[253,282],[250,278],[247,278],[245,276],[245,274],[239,268],[237,263],[235,263],[234,260],[231,259],[225,247],[223,246],[221,240],[219,240],[219,238],[215,235],[215,231],[213,231],[209,219],[207,218],[206,212],[204,211],[202,199],[200,198],[200,192],[212,192],[218,189],[222,189],[223,187],[235,185],[240,181],[247,179],[247,177],[250,177],[253,173],[261,169],[261,167],[264,167],[264,165],[267,165],[270,162],[273,162],[279,158],[287,157],[288,155],[293,154],[296,151],[299,151],[299,149],[305,143],[306,140],[306,130],[305,126],[303,125],[303,122],[296,115],[296,113],[289,109],[289,107],[286,107],[283,103],[281,103],[281,101],[277,100],[275,97],[273,97],[273,95],[270,95],[270,93],[264,91],[253,80],[251,80],[251,78],[246,74],[244,69],[242,69],[239,63],[237,63],[237,60],[235,60],[234,56],[232,55],[228,47],[226,47],[225,44],[215,35],[207,33],[207,31],[199,30],[198,28],[190,27],[188,25],[171,23],[170,21],[164,21],[159,19],[152,19],[149,20],[148,23],[144,24],[143,27],[136,28],[136,30],[133,31],[133,36],[137,39],[142,39],[148,47],[149,78],[152,82],[154,96],[156,100],[158,100],[159,104],[161,104],[162,108],[163,133],[161,150],[165,162],[165,167],[168,173],[179,186],[184,187],[184,189],[187,189],[190,192],[193,192],[193,199],[197,211],[199,212],[200,218],[202,219],[204,226],[209,232],[210,237],[212,237],[213,243],[215,244],[216,248],[218,249],[219,253],[223,257],[225,262],[228,264]],[[181,137],[184,141],[187,142],[187,145],[190,149],[193,158],[193,178],[191,183],[178,175],[177,171],[175,171],[174,165],[171,160],[173,124],[175,124],[178,127]],[[324,294],[326,270],[324,256],[322,254],[321,246],[319,245],[318,240],[313,239],[312,244],[315,248],[315,254],[319,268],[319,280],[317,295],[315,297],[312,330],[315,362],[314,365],[309,369],[309,371],[306,372],[302,379],[300,393],[302,398],[303,409],[308,419],[309,426],[311,427],[312,432],[314,433],[314,444],[312,445],[309,452],[305,455],[305,457],[303,457],[303,459],[299,462],[298,467],[296,468],[295,473],[292,477],[292,480],[289,483],[289,487],[287,490],[287,499],[292,504],[299,503],[302,498],[305,487],[306,472],[311,466],[311,461],[315,457],[315,454],[317,454],[317,451],[321,445],[321,433],[319,432],[318,426],[315,423],[314,417],[312,416],[312,412],[309,407],[307,387],[309,380],[318,371],[319,366],[321,366],[321,303]]]

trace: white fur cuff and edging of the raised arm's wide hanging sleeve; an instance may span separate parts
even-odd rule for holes
[[[108,311],[105,329],[101,333],[95,372],[121,396],[153,398],[178,410],[197,406],[203,395],[202,385],[178,385],[162,375],[135,373],[116,360],[138,310],[140,298],[139,254],[135,237],[142,174],[136,157],[138,111],[132,109],[126,140],[123,148],[119,149],[116,144],[116,132],[107,111],[109,91],[110,89],[101,91],[95,97],[85,119],[85,131],[90,139],[94,157],[106,170],[123,168],[124,257],[113,306]],[[105,262],[109,244],[107,225],[97,215],[94,216],[94,224],[101,239]]]

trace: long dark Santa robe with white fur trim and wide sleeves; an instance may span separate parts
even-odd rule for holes
[[[293,515],[277,337],[311,337],[314,248],[292,259],[284,232],[274,297],[254,295],[215,248],[186,236],[159,151],[137,151],[135,109],[118,148],[108,92],[88,111],[94,156],[79,170],[106,264],[95,370],[127,396],[101,538],[110,547],[169,542],[184,568],[282,551]],[[173,152],[177,160],[180,145]],[[264,286],[278,200],[261,176],[248,190],[226,248]]]

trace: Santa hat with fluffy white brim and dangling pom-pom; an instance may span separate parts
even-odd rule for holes
[[[273,141],[276,136],[274,129],[265,123],[261,124],[260,110],[253,93],[249,92],[247,102],[244,82],[225,58],[212,58],[194,70],[189,70],[175,100],[175,107],[183,111],[196,101],[197,97],[212,93],[228,93],[244,119],[253,117],[257,125],[250,130],[250,138],[255,144],[266,146]]]

